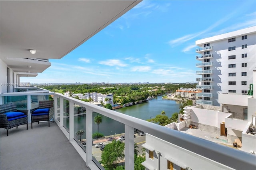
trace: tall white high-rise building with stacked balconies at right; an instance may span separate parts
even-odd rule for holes
[[[256,67],[256,26],[196,41],[197,104],[216,105],[220,93],[247,95]]]

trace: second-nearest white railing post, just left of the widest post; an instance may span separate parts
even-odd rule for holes
[[[86,166],[92,161],[92,110],[86,108]]]

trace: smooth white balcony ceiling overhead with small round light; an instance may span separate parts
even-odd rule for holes
[[[50,63],[29,58],[64,57],[139,2],[0,1],[0,58],[14,72],[42,72]]]

